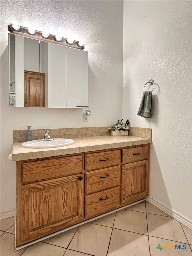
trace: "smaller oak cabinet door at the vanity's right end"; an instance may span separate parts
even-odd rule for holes
[[[122,204],[132,203],[149,195],[148,168],[148,160],[122,165]]]

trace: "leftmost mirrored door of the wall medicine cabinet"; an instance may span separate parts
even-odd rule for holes
[[[39,72],[39,40],[9,34],[9,43],[10,105],[44,106]]]

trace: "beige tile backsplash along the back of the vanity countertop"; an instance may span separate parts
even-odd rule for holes
[[[49,130],[51,138],[80,138],[80,137],[93,137],[93,136],[103,136],[111,135],[108,132],[109,126],[104,127],[82,127],[82,128],[62,128],[62,129],[40,129],[32,130],[33,139],[40,140],[43,139],[44,134]],[[26,130],[16,130],[13,131],[13,142],[23,142],[25,141]],[[129,135],[142,137],[146,139],[151,139],[152,129],[150,128],[139,128],[130,127]]]

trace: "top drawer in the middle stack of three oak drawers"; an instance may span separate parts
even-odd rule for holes
[[[86,171],[119,165],[121,163],[121,151],[107,151],[85,155]]]

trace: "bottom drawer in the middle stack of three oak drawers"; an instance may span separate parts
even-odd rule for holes
[[[101,200],[103,199],[103,200]],[[86,218],[110,211],[120,206],[120,187],[85,196]]]

